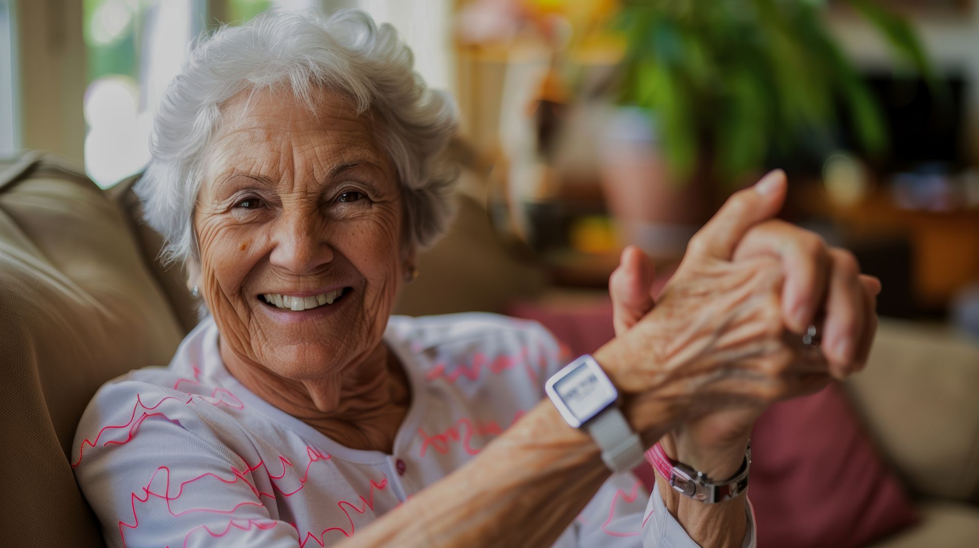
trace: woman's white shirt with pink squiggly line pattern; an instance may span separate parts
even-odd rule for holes
[[[412,400],[389,455],[345,447],[262,400],[225,369],[217,338],[205,319],[167,368],[123,375],[86,408],[71,465],[110,546],[337,543],[473,458],[571,360],[536,322],[392,317],[385,342]],[[619,474],[554,546],[696,544],[657,489]]]

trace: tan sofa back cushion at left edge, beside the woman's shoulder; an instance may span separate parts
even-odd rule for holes
[[[16,493],[0,538],[101,545],[71,474],[78,418],[107,380],[165,365],[182,330],[117,206],[63,160],[0,165],[0,307],[0,467]]]

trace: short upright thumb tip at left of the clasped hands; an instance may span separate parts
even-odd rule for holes
[[[627,247],[622,251],[619,267],[609,277],[612,325],[617,337],[629,331],[653,309],[652,286],[652,261],[639,248]]]

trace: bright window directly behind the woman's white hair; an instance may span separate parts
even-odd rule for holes
[[[0,8],[8,2],[0,0]],[[449,0],[83,0],[83,7],[88,58],[85,170],[102,188],[146,166],[163,92],[205,22],[242,23],[269,9],[330,13],[360,7],[378,23],[395,22],[415,50],[416,69],[435,87],[450,87]],[[216,13],[209,13],[209,7]],[[3,13],[0,9],[0,37]],[[0,56],[3,51],[0,45]],[[0,89],[0,109],[3,100]],[[0,135],[0,147],[3,139]]]

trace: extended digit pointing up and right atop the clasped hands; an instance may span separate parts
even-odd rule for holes
[[[688,254],[729,260],[751,227],[773,217],[782,208],[786,185],[785,172],[774,169],[754,186],[735,192],[693,235]]]

